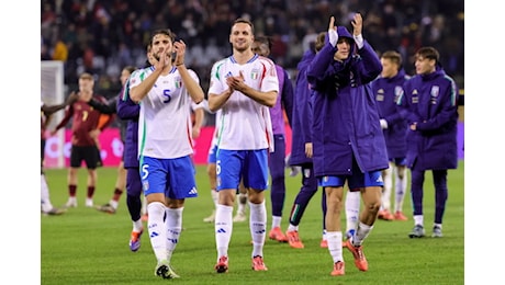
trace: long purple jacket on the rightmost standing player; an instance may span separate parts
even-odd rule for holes
[[[458,167],[458,89],[440,66],[429,75],[417,75],[404,84],[397,104],[416,129],[407,132],[407,167],[445,170]]]

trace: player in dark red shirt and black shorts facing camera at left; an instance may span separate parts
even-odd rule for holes
[[[69,198],[66,207],[77,207],[77,183],[78,170],[82,161],[86,162],[88,169],[88,193],[86,198],[86,206],[93,206],[94,187],[97,185],[97,168],[101,167],[100,150],[98,148],[98,137],[100,133],[108,127],[113,116],[108,116],[108,119],[99,126],[101,113],[88,104],[88,102],[96,98],[97,100],[105,103],[106,100],[93,93],[94,79],[90,73],[82,73],[79,77],[79,99],[65,110],[65,116],[52,132],[55,135],[58,129],[65,127],[72,118],[71,124],[71,150],[70,150],[70,168],[68,171],[68,192]]]

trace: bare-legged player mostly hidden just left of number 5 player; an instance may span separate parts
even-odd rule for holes
[[[121,71],[121,86],[123,87],[121,92],[111,98],[106,104],[91,99],[88,104],[94,107],[96,110],[100,111],[102,114],[116,114],[117,111],[117,101],[120,100],[121,95],[124,92],[124,86],[126,84],[126,81],[128,80],[132,72],[135,70],[135,67],[133,66],[126,66],[123,68]],[[126,122],[123,119],[119,119],[120,124],[120,134],[121,134],[121,141],[123,142],[123,146],[125,145],[126,141]],[[121,160],[120,164],[117,166],[117,178],[115,180],[115,185],[114,185],[114,191],[112,193],[112,197],[109,201],[109,203],[101,205],[97,207],[98,210],[109,213],[109,214],[115,214],[117,210],[119,202],[121,198],[121,195],[124,192],[124,189],[126,186],[126,169],[124,168],[124,161],[123,159]]]

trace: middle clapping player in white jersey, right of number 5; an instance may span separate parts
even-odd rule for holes
[[[252,23],[237,19],[229,43],[233,55],[215,62],[211,71],[209,109],[221,110],[216,169],[218,205],[215,215],[217,264],[215,271],[228,271],[228,246],[233,230],[236,190],[244,181],[249,195],[249,228],[252,238],[255,271],[266,271],[263,244],[268,189],[268,152],[273,150],[269,107],[279,92],[273,62],[252,53]]]

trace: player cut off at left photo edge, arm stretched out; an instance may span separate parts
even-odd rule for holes
[[[49,186],[47,185],[47,180],[44,173],[47,125],[49,124],[50,117],[54,113],[72,104],[77,99],[77,94],[72,92],[61,104],[47,105],[41,101],[41,212],[45,215],[54,216],[65,213],[65,209],[56,208],[53,206],[53,203],[50,203]]]

